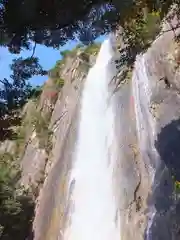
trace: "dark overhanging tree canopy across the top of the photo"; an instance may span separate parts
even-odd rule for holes
[[[175,3],[179,11],[179,0],[2,0],[1,44],[17,53],[32,41],[55,48],[75,37],[89,43],[117,24],[141,21],[146,10],[162,19]]]

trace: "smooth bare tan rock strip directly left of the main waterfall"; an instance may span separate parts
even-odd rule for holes
[[[79,99],[87,72],[83,62],[68,58],[61,76],[65,85],[59,93],[50,120],[53,131],[53,150],[45,169],[44,186],[41,189],[34,220],[34,239],[57,239],[65,224],[68,201],[66,185],[76,141]]]

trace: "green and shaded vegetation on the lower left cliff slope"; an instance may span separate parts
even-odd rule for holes
[[[36,95],[36,94],[35,94]],[[39,148],[47,154],[52,149],[49,130],[49,115],[43,115],[34,98],[23,116],[20,126],[14,129],[13,149],[0,153],[0,238],[24,240],[31,236],[34,217],[34,200],[38,196],[38,186],[30,185],[24,189],[21,182],[21,159],[26,146],[36,132]]]

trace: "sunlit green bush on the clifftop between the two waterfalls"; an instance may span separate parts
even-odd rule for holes
[[[135,16],[123,23],[124,31],[122,37],[126,47],[121,49],[120,65],[132,66],[135,57],[145,51],[156,38],[160,31],[161,18],[158,11],[143,12],[139,9]]]

